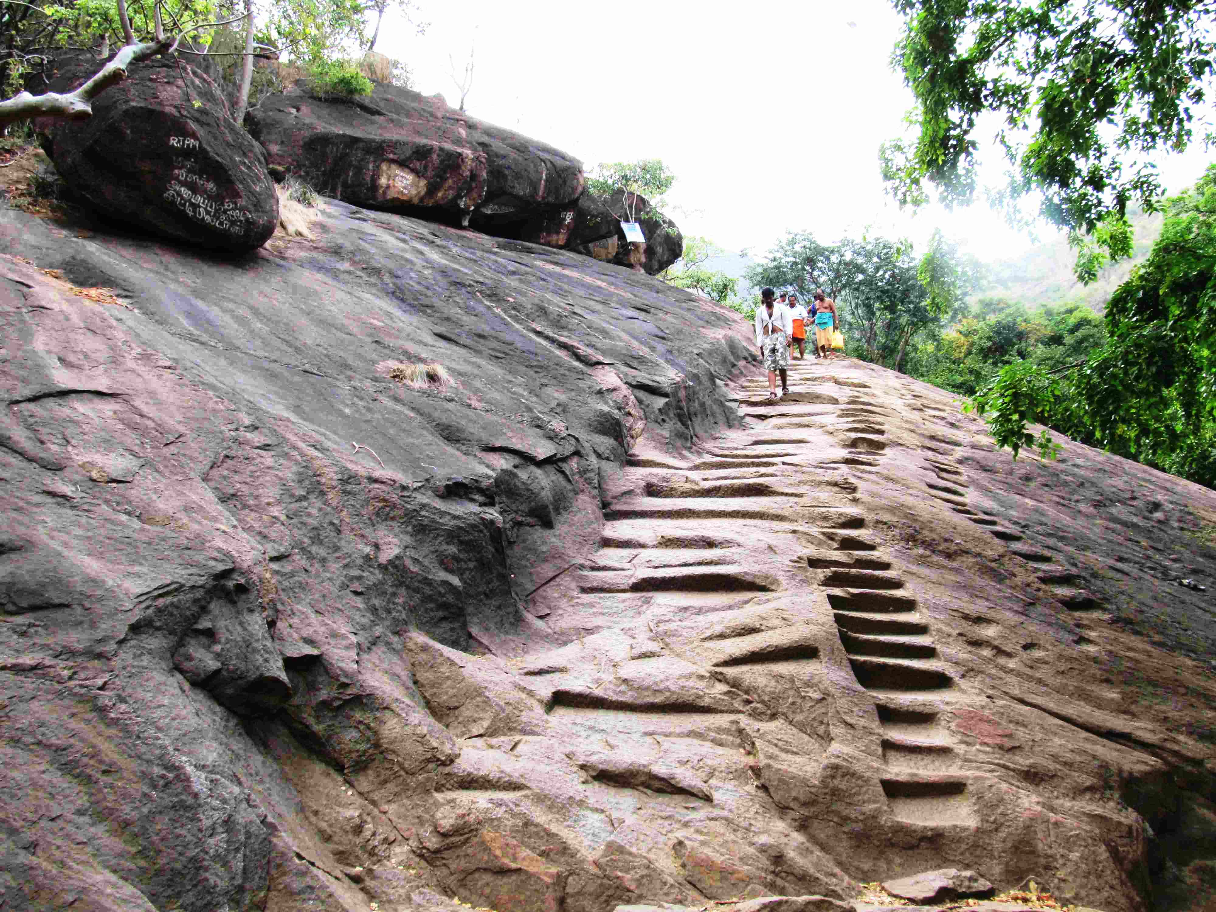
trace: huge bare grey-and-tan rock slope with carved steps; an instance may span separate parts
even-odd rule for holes
[[[323,208],[236,263],[0,212],[0,907],[1210,907],[1216,492]]]

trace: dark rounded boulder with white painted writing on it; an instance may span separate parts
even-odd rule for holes
[[[100,64],[66,62],[50,91],[72,91]],[[116,221],[197,247],[244,253],[278,220],[265,153],[208,77],[176,61],[131,68],[88,120],[40,118],[39,139],[77,197]]]

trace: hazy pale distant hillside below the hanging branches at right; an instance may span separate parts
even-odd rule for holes
[[[1148,257],[1161,233],[1160,213],[1136,212],[1131,220],[1136,232],[1131,259],[1107,266],[1093,285],[1083,286],[1076,281],[1073,275],[1076,252],[1068,246],[1066,238],[1060,237],[1037,244],[1017,259],[986,264],[987,285],[976,297],[1003,297],[1028,306],[1076,300],[1100,314],[1110,295],[1127,278],[1132,266]]]

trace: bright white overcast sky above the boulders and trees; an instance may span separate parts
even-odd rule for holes
[[[941,227],[985,260],[1034,243],[983,202],[913,216],[884,196],[878,146],[911,107],[889,63],[901,26],[889,0],[418,2],[426,34],[387,18],[376,47],[410,64],[416,89],[458,103],[447,55],[461,68],[474,45],[469,114],[586,168],[663,159],[686,235],[753,255],[787,229],[834,242],[869,226],[921,246]],[[1165,162],[1166,185],[1194,181],[1205,159],[1194,146]],[[1001,164],[996,150],[985,161]]]

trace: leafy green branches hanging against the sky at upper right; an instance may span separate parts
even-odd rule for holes
[[[883,146],[901,204],[927,185],[970,203],[976,130],[1000,118],[1010,164],[996,196],[1010,214],[1028,193],[1070,229],[1079,272],[1126,252],[1130,201],[1152,210],[1162,188],[1148,157],[1181,151],[1212,78],[1214,6],[1194,0],[893,0],[906,17],[893,62],[916,96],[911,140]],[[1086,241],[1082,235],[1088,235]]]

